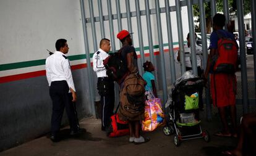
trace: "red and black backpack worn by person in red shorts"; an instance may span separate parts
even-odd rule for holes
[[[217,54],[213,56],[211,71],[213,73],[235,73],[237,67],[237,44],[234,39],[218,35]]]

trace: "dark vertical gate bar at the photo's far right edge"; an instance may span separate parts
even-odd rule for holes
[[[255,0],[250,0],[250,8],[251,8],[251,14],[252,14],[252,49],[254,49],[254,84],[255,84],[255,90],[256,90],[256,4]]]

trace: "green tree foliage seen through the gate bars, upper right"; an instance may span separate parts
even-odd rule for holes
[[[210,2],[205,2],[205,21],[207,24],[207,33],[211,33],[211,5]],[[247,15],[250,12],[250,0],[243,0],[244,6],[244,15]],[[229,14],[237,14],[237,5],[236,0],[228,0],[229,5]],[[216,0],[216,9],[217,12],[223,12],[223,0]],[[200,22],[200,12],[199,6],[194,5],[194,17],[197,17],[196,22]],[[199,26],[200,27],[200,26]]]

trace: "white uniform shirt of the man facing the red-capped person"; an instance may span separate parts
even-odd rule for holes
[[[96,72],[98,78],[107,77],[103,60],[108,56],[109,54],[102,49],[99,49],[93,54],[93,70]]]

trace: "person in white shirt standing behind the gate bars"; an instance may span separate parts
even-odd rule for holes
[[[197,34],[195,33],[195,39],[197,39]],[[192,70],[192,62],[191,62],[191,50],[190,50],[190,39],[189,39],[189,33],[187,34],[187,44],[184,46],[184,53],[185,53],[185,66],[186,71]],[[176,62],[180,62],[180,54],[181,51],[176,52],[175,54],[175,60]],[[195,54],[197,55],[197,72],[198,76],[200,78],[203,78],[203,68],[202,68],[202,47],[198,46],[195,43]],[[199,110],[203,110],[203,88],[199,89],[199,102],[198,107]]]

